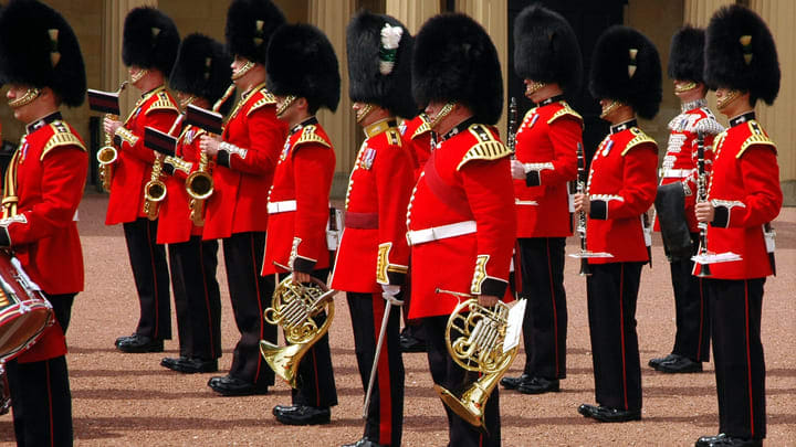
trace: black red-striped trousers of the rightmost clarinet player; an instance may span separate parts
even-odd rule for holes
[[[719,396],[719,433],[765,438],[761,311],[765,278],[708,279]]]

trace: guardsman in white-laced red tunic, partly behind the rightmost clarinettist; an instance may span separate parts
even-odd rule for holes
[[[704,30],[683,26],[673,36],[669,51],[669,77],[680,98],[680,115],[669,123],[669,146],[660,169],[656,198],[656,231],[661,232],[669,258],[677,332],[669,355],[652,359],[649,365],[667,373],[702,371],[710,360],[708,297],[702,279],[691,275],[691,256],[699,249],[696,203],[696,158],[702,135],[705,172],[710,172],[713,137],[724,130],[708,108],[708,87],[702,77]]]

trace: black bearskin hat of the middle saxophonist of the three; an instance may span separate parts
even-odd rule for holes
[[[232,57],[221,42],[203,34],[190,34],[180,43],[169,86],[213,104],[230,85],[231,63]],[[231,105],[231,100],[224,104],[227,108]]]

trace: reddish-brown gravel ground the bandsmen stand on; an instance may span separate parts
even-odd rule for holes
[[[218,397],[206,386],[212,374],[180,375],[165,370],[158,364],[164,354],[117,352],[113,342],[134,330],[138,305],[122,228],[102,225],[105,206],[105,195],[88,194],[80,212],[87,280],[75,302],[69,334],[76,445],[337,446],[362,436],[364,393],[343,299],[336,301],[338,311],[331,329],[341,404],[326,426],[296,428],[276,423],[271,408],[290,402],[290,391],[282,383],[266,396]],[[796,209],[783,210],[775,227],[779,276],[766,284],[763,306],[768,371],[766,444],[796,446]],[[573,249],[574,244],[572,240]],[[637,313],[642,365],[670,352],[674,332],[669,269],[660,240],[656,240],[653,258],[654,268],[645,268],[642,274]],[[577,263],[568,262],[568,370],[562,392],[543,396],[501,393],[503,445],[689,446],[701,435],[715,434],[718,408],[710,363],[704,373],[677,376],[643,366],[641,422],[598,424],[576,413],[580,403],[594,402],[585,280],[577,276]],[[222,267],[219,279],[224,306],[223,369],[230,364],[237,337]],[[177,355],[177,340],[167,342],[165,355]],[[431,389],[426,356],[407,354],[404,359],[404,444],[444,446],[446,419]],[[517,373],[523,361],[520,356],[510,374]],[[0,416],[0,445],[11,443],[11,417]]]

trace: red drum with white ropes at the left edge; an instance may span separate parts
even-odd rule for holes
[[[0,364],[33,344],[53,321],[50,301],[19,259],[0,251]]]

